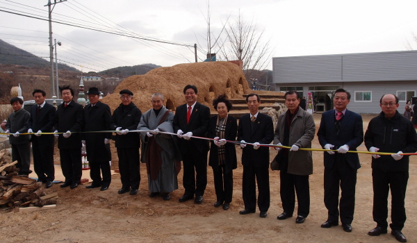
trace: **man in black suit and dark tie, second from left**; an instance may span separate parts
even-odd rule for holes
[[[38,175],[38,181],[42,181],[49,188],[55,178],[54,168],[54,135],[51,133],[55,124],[56,109],[45,101],[47,94],[43,90],[33,90],[33,99],[36,105],[31,108],[31,118],[28,121],[28,133],[36,131],[32,135],[33,167]]]

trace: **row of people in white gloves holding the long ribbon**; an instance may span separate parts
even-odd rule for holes
[[[79,175],[81,158],[78,154],[81,154],[81,140],[85,140],[92,178],[92,185],[88,188],[108,189],[111,182],[108,164],[111,159],[108,145],[111,133],[74,132],[113,130],[117,131],[114,139],[122,180],[122,189],[119,193],[130,191],[130,194],[137,194],[140,183],[138,153],[140,138],[138,133],[129,133],[137,128],[149,131],[142,132],[140,136],[143,144],[140,160],[147,165],[151,192],[149,196],[162,193],[163,199],[170,199],[170,192],[178,188],[177,173],[181,168],[179,161],[182,160],[185,192],[179,201],[195,199],[195,203],[202,203],[207,185],[207,153],[210,150],[208,165],[211,165],[213,169],[217,196],[214,206],[223,206],[224,210],[227,210],[233,194],[232,171],[237,167],[235,145],[227,141],[236,140],[237,133],[237,140],[240,141],[240,147],[243,149],[242,185],[245,209],[241,210],[240,214],[255,212],[257,201],[260,217],[267,217],[270,207],[268,170],[270,153],[268,146],[261,146],[261,144],[270,144],[273,140],[274,144],[277,144],[275,149],[279,152],[271,167],[280,170],[280,194],[284,209],[284,212],[277,218],[282,220],[293,216],[295,195],[298,201],[295,222],[302,224],[309,215],[309,175],[313,173],[313,161],[311,151],[299,149],[311,148],[316,126],[313,117],[300,108],[300,97],[297,92],[286,92],[284,98],[288,110],[279,117],[275,132],[271,117],[259,112],[261,100],[257,94],[247,95],[246,101],[250,114],[240,117],[239,124],[234,117],[228,115],[231,102],[224,96],[213,101],[218,115],[210,117],[209,108],[197,102],[197,87],[194,85],[187,85],[183,89],[186,103],[177,107],[175,115],[163,106],[163,95],[159,93],[152,95],[153,108],[142,115],[140,109],[132,102],[133,93],[129,90],[122,90],[120,92],[122,103],[113,112],[113,116],[111,116],[110,108],[98,100],[99,92],[95,87],[90,88],[88,92],[90,105],[84,109],[72,101],[74,92],[70,87],[62,87],[61,94],[64,103],[58,106],[58,115],[55,115],[55,109],[51,109],[44,102],[44,92],[35,90],[33,97],[38,106],[32,108],[28,119],[28,132],[38,131],[32,139],[35,147],[33,149],[35,172],[40,181],[46,180],[47,187],[51,186],[49,181],[54,177],[53,163],[49,163],[53,154],[53,143],[49,142],[50,138],[48,142],[40,140],[39,133],[42,133],[42,130],[51,131],[51,127],[55,125],[56,132],[64,133],[58,136],[61,164],[66,164],[63,165],[66,179],[61,187],[71,185],[71,188],[75,188],[78,185],[81,179]],[[334,110],[322,114],[318,129],[320,144],[324,149],[329,150],[325,152],[324,158],[325,206],[328,209],[328,217],[322,227],[330,228],[338,225],[340,217],[343,229],[347,232],[352,231],[357,169],[361,167],[357,153],[347,153],[347,151],[356,151],[357,146],[363,142],[361,116],[347,110],[349,102],[349,92],[343,89],[336,90]],[[377,227],[368,234],[386,233],[388,227],[386,196],[390,185],[391,194],[393,194],[392,208],[395,212],[391,216],[393,223],[390,226],[393,235],[401,241],[405,239],[401,230],[405,221],[404,196],[409,163],[409,156],[402,156],[402,153],[414,153],[417,150],[417,137],[411,121],[404,119],[396,111],[398,98],[395,95],[384,95],[380,100],[380,106],[381,114],[372,119],[368,126],[365,145],[373,153],[380,151],[393,154],[373,156],[373,216]],[[67,110],[72,110],[72,112]],[[14,113],[17,113],[17,110]],[[8,124],[10,125],[9,122]],[[16,132],[13,130],[15,129],[10,132]],[[160,131],[177,133],[179,139],[159,133]],[[19,131],[17,131],[17,136],[18,133]],[[42,135],[42,138],[48,136]],[[209,146],[208,140],[193,136],[209,137],[214,140]],[[74,142],[69,142],[69,137],[73,137]],[[248,143],[251,145],[247,146]],[[74,147],[68,147],[70,144]],[[280,149],[280,146],[291,146],[291,149]],[[51,149],[52,153],[49,153]],[[49,165],[52,165],[52,169]],[[103,174],[102,179],[100,169]],[[257,200],[256,183],[259,192]],[[339,185],[341,187],[340,202],[338,201]]]

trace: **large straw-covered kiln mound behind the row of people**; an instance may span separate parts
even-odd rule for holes
[[[185,103],[183,88],[195,85],[198,89],[197,101],[214,110],[212,101],[220,94],[229,98],[242,98],[250,92],[242,69],[231,62],[196,62],[172,67],[158,67],[144,75],[126,78],[115,88],[113,94],[101,101],[110,106],[111,111],[120,105],[120,90],[133,92],[133,103],[145,112],[152,108],[151,96],[159,92],[165,98],[165,106],[175,110]]]

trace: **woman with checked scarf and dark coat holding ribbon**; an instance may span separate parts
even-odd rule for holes
[[[208,123],[208,137],[213,137],[211,142],[208,165],[213,168],[214,187],[217,208],[223,205],[223,209],[229,209],[233,194],[233,169],[237,167],[236,147],[226,140],[235,141],[238,131],[236,118],[228,115],[231,102],[226,96],[220,95],[213,100],[213,106],[218,115],[211,117]]]

